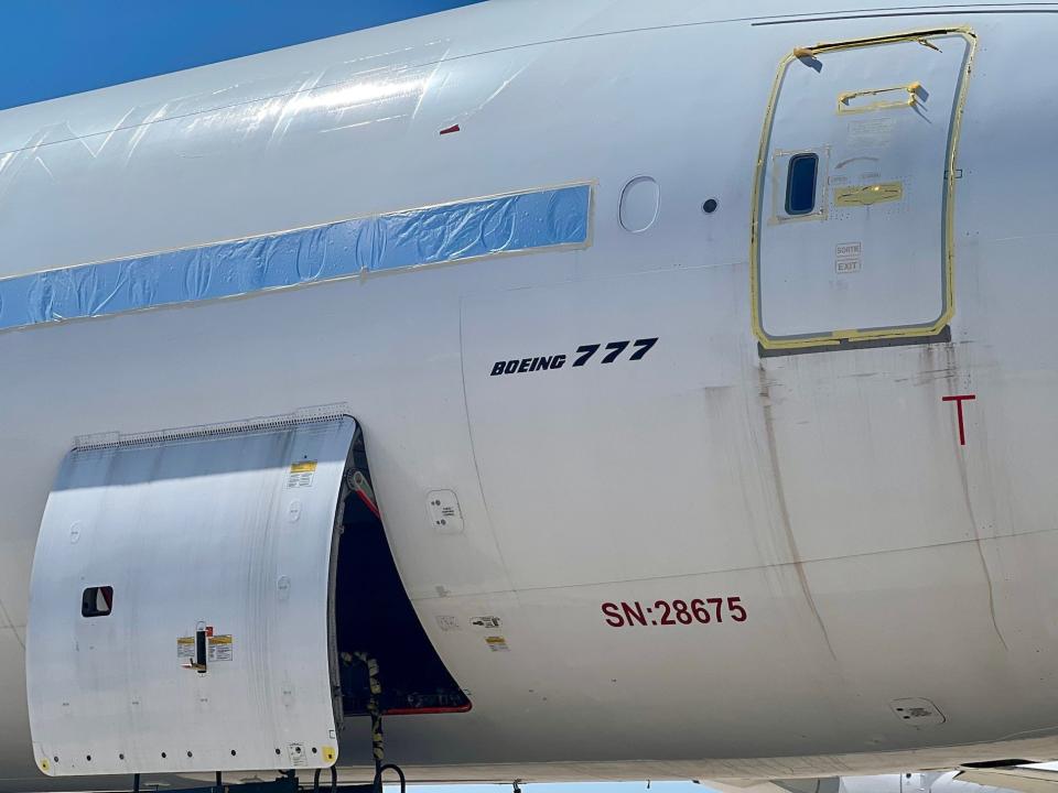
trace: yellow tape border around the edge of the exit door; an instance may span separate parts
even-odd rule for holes
[[[816,58],[827,53],[861,47],[886,46],[888,44],[906,44],[919,42],[924,46],[931,46],[929,39],[940,36],[961,36],[965,40],[968,50],[963,61],[962,74],[959,78],[959,88],[956,96],[956,107],[951,119],[951,129],[948,134],[948,152],[946,155],[946,185],[944,185],[944,237],[943,237],[943,311],[935,323],[910,327],[884,328],[849,328],[831,330],[817,336],[799,336],[797,338],[771,337],[764,330],[760,316],[760,232],[763,230],[762,196],[764,194],[764,175],[768,162],[768,148],[771,141],[771,127],[775,123],[775,109],[782,88],[782,78],[791,63],[800,58]],[[959,138],[962,130],[962,116],[967,102],[967,91],[970,87],[970,74],[973,57],[978,48],[978,36],[972,28],[932,28],[914,30],[905,33],[893,33],[868,39],[850,39],[848,41],[819,43],[814,46],[795,47],[779,62],[775,82],[771,85],[771,95],[768,98],[767,112],[764,118],[764,129],[760,133],[760,146],[757,150],[757,162],[754,173],[751,224],[749,224],[749,301],[753,321],[753,333],[767,350],[803,349],[808,347],[838,347],[848,341],[867,341],[873,339],[914,338],[936,336],[951,322],[956,313],[954,305],[954,211],[956,211],[956,173],[958,160]]]

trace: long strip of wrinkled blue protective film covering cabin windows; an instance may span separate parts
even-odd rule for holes
[[[497,196],[0,281],[0,329],[587,242],[591,186]]]

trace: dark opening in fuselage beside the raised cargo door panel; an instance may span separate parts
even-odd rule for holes
[[[346,469],[334,588],[342,713],[369,713],[368,664],[382,715],[464,713],[471,702],[449,673],[408,597],[379,517],[357,433]]]

